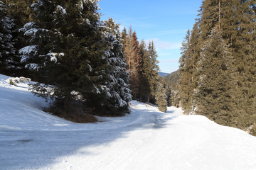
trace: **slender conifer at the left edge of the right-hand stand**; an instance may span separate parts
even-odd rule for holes
[[[186,39],[181,47],[180,59],[180,98],[181,106],[185,113],[193,113],[195,108],[194,89],[198,81],[197,64],[201,52],[201,37],[198,29],[198,22],[193,26],[193,30],[188,30]]]

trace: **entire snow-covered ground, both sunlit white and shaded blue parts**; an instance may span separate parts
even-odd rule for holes
[[[41,111],[27,84],[0,74],[0,169],[256,169],[256,137],[179,108],[79,124]]]

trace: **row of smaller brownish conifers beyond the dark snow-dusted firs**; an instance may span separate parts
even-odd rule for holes
[[[156,103],[160,111],[166,111],[166,89],[159,76],[159,66],[153,41],[146,45],[144,40],[138,41],[137,33],[130,27],[122,30],[124,55],[127,72],[130,74],[129,84],[134,100]]]

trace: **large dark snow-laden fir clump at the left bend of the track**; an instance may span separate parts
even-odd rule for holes
[[[121,35],[114,22],[100,21],[97,1],[38,0],[31,8],[36,20],[21,29],[31,38],[21,62],[46,84],[31,90],[55,98],[57,114],[128,113]]]

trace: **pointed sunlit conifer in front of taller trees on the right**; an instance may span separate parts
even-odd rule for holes
[[[196,113],[222,125],[233,125],[234,103],[232,60],[222,32],[213,28],[198,63],[200,79],[196,89]]]

